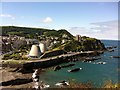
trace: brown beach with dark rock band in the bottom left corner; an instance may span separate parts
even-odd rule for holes
[[[4,67],[0,69],[0,88],[32,88],[32,73],[22,74],[14,72],[15,68]]]

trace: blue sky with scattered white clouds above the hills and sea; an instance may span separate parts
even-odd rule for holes
[[[73,35],[118,39],[117,2],[2,2],[0,26],[67,29]]]

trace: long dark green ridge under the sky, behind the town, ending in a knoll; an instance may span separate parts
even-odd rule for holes
[[[71,39],[71,35],[67,30],[51,30],[44,28],[27,28],[27,27],[16,27],[16,26],[2,26],[2,35],[18,35],[25,36],[27,38],[37,38],[36,36],[45,35],[47,37],[62,37],[63,34],[66,34]]]

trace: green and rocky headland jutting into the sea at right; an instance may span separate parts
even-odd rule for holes
[[[71,40],[65,44],[59,45],[54,49],[62,49],[66,52],[78,52],[78,51],[92,51],[92,50],[104,50],[105,46],[100,40],[94,38],[84,38],[83,41],[79,42]]]

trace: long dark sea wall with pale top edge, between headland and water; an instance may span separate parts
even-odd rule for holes
[[[49,57],[45,59],[35,59],[24,63],[23,68],[25,69],[47,68],[65,62],[78,61],[80,60],[81,57],[97,56],[100,55],[101,53],[102,51],[72,52],[72,53],[62,54],[59,56]]]

